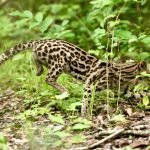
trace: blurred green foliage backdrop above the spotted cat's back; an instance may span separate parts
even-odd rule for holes
[[[3,2],[3,1],[2,1]],[[149,60],[147,0],[4,0],[0,46],[39,38],[61,38],[98,57]],[[12,45],[12,44],[11,44]],[[140,53],[140,55],[139,55]]]

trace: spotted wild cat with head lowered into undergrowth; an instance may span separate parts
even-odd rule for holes
[[[61,93],[68,92],[56,82],[62,72],[85,82],[81,108],[83,117],[87,114],[93,84],[96,84],[96,90],[113,88],[133,80],[140,72],[147,71],[147,64],[143,61],[129,64],[105,63],[67,41],[47,39],[21,43],[10,48],[0,55],[0,64],[26,49],[32,49],[36,75],[40,76],[43,73],[43,65],[46,66],[46,82]]]

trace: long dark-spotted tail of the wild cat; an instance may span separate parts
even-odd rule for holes
[[[0,54],[0,65],[4,63],[6,60],[8,60],[10,57],[13,57],[17,53],[20,53],[26,49],[31,49],[34,47],[35,41],[30,41],[27,43],[20,43],[16,46],[6,50],[4,53]]]

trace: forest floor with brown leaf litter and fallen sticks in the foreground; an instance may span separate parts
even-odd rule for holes
[[[150,111],[135,110],[125,102],[118,105],[124,110],[123,117],[109,119],[101,111],[93,116],[89,128],[70,130],[67,117],[62,124],[50,121],[47,115],[28,116],[28,121],[17,118],[25,106],[9,89],[0,95],[0,150],[150,149]],[[110,114],[116,111],[109,110]]]

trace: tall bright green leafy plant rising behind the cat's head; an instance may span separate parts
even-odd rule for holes
[[[135,19],[132,22],[133,19],[127,17],[130,14],[128,10],[136,6],[142,8],[146,1],[93,0],[91,4],[93,11],[89,18],[94,20],[94,25],[98,22],[93,34],[98,51],[107,51],[108,55],[114,53],[111,58],[132,56],[138,61],[149,60],[149,35],[141,32],[143,26],[140,21]],[[144,16],[137,16],[136,11],[132,11],[132,16],[144,19]]]

